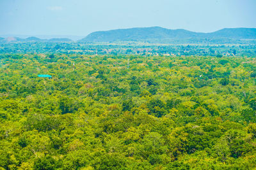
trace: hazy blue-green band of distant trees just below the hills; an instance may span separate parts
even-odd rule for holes
[[[256,55],[256,45],[143,45],[112,44],[90,45],[86,43],[3,43],[0,53],[65,53],[80,55],[200,55],[200,56],[248,56]]]

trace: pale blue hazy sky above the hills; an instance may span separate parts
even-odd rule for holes
[[[256,27],[256,0],[0,0],[0,34],[78,35],[161,26]]]

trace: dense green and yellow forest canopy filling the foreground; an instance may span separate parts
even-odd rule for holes
[[[0,53],[0,169],[256,168],[256,59],[237,56],[244,48],[167,56],[17,46]]]

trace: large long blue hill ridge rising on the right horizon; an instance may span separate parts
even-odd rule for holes
[[[145,27],[131,29],[115,29],[111,31],[92,32],[81,42],[118,42],[144,41],[148,43],[232,43],[244,39],[256,39],[255,28],[232,28],[202,33],[184,29],[165,29],[163,27]]]

